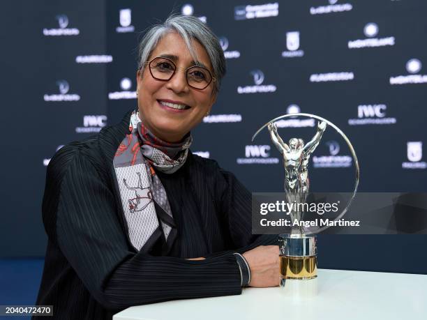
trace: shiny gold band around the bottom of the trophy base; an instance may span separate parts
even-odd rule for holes
[[[281,279],[310,280],[317,277],[317,257],[280,256]]]

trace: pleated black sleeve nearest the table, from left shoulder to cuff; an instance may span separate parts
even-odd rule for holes
[[[52,160],[44,201],[47,234],[107,309],[241,293],[231,253],[188,261],[130,251],[114,196],[100,167],[82,148],[62,151]]]

